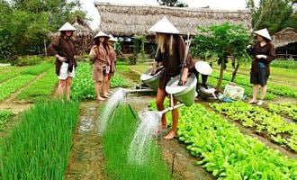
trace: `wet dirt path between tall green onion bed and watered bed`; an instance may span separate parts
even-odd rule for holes
[[[80,103],[78,125],[68,159],[67,180],[107,179],[103,172],[102,141],[98,135],[99,104]]]

